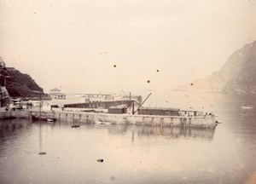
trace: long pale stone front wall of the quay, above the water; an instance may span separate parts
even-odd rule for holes
[[[195,127],[213,129],[216,127],[214,115],[204,116],[160,116],[140,114],[114,114],[106,112],[73,112],[73,111],[13,111],[0,112],[0,118],[32,118],[32,115],[54,115],[57,121],[78,124],[95,124],[106,122],[111,124],[140,124],[161,127]]]

